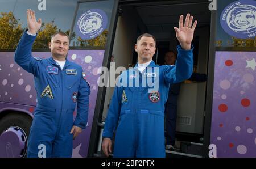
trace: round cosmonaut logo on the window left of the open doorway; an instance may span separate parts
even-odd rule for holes
[[[84,40],[94,39],[104,31],[107,23],[108,17],[104,11],[91,9],[77,20],[76,33]]]

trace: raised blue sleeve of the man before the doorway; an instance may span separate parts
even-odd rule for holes
[[[167,83],[184,81],[190,78],[193,73],[193,45],[191,45],[190,50],[183,50],[179,45],[177,51],[176,65],[166,65],[166,69],[164,69],[164,81]]]

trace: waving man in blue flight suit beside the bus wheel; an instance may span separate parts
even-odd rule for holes
[[[67,60],[68,36],[57,32],[49,48],[52,57],[42,60],[31,55],[42,21],[27,10],[28,31],[20,39],[15,61],[35,77],[38,104],[28,138],[27,157],[71,157],[72,141],[86,128],[89,84],[82,67]],[[77,116],[73,112],[77,105]]]

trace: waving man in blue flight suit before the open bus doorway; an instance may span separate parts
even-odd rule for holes
[[[106,117],[102,134],[105,155],[112,152],[115,132],[114,157],[165,157],[164,104],[170,84],[184,81],[192,74],[191,42],[197,24],[195,21],[192,26],[192,22],[193,16],[187,14],[183,24],[181,15],[179,28],[174,28],[180,42],[176,66],[155,65],[154,36],[146,33],[138,37],[138,63],[120,75]]]

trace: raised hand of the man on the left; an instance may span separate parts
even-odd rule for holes
[[[28,32],[31,34],[36,34],[39,29],[42,26],[42,20],[41,18],[36,21],[35,18],[35,11],[32,11],[31,9],[27,10],[27,27],[28,27]]]

